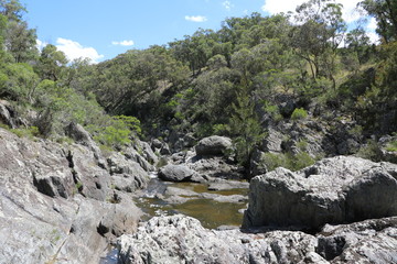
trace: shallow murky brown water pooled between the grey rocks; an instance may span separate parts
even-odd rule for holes
[[[170,198],[165,194],[168,187],[190,191],[187,191],[187,195],[182,194],[179,196],[182,198],[183,202],[171,204],[167,201],[169,200],[167,198]],[[245,199],[239,200],[238,202],[219,202],[203,197],[208,194],[211,197],[240,195],[244,196]],[[183,213],[198,219],[203,227],[214,229],[219,226],[239,227],[242,224],[243,213],[240,211],[247,206],[247,195],[248,188],[208,190],[207,185],[205,184],[170,184],[159,179],[152,179],[146,196],[136,199],[136,204],[148,213],[147,219],[153,216]]]

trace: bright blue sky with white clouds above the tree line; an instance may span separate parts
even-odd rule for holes
[[[353,25],[360,0],[336,0]],[[68,59],[111,59],[131,48],[164,45],[200,28],[221,29],[226,18],[259,12],[271,15],[293,11],[304,0],[20,0],[24,19],[36,29],[37,45],[53,44]],[[374,21],[367,30],[375,40]]]

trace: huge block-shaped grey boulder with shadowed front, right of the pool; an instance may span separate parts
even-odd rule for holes
[[[390,216],[397,216],[397,165],[339,156],[253,178],[243,227],[319,229]]]

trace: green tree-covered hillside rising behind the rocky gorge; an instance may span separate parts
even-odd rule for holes
[[[397,130],[397,2],[360,7],[376,19],[379,44],[363,28],[347,30],[340,4],[310,0],[294,13],[229,18],[218,31],[200,29],[92,65],[68,62],[51,44],[39,51],[26,10],[18,0],[1,0],[0,99],[20,117],[4,123],[21,135],[58,142],[68,141],[64,127],[81,123],[112,148],[135,136],[173,146],[186,134],[227,135],[246,168],[269,129],[302,129],[307,121],[336,138],[336,121],[348,123],[348,139],[371,148]],[[287,130],[282,136],[286,145],[293,138]],[[293,144],[268,160],[275,166],[297,160],[301,164],[283,165],[299,168],[318,158],[305,139]],[[361,148],[346,154],[368,152]]]

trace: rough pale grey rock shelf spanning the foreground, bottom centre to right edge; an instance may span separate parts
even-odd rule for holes
[[[208,230],[193,218],[157,217],[118,239],[118,263],[396,263],[397,218],[300,231]]]

